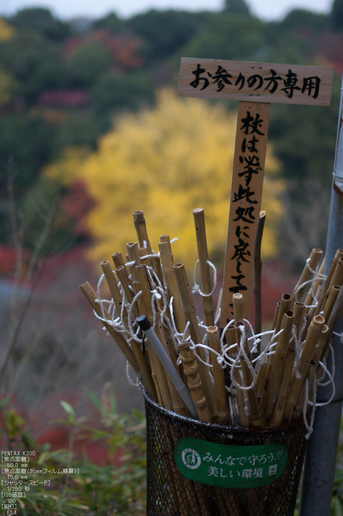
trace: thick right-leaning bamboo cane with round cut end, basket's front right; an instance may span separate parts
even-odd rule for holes
[[[325,319],[317,315],[312,319],[307,331],[303,351],[301,353],[299,371],[293,370],[287,400],[284,411],[284,421],[290,421],[294,407],[296,406],[302,385],[305,381],[310,362],[314,356],[315,348],[323,331]]]

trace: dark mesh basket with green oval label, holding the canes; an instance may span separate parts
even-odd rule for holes
[[[268,430],[223,427],[179,416],[144,396],[148,516],[293,516],[306,445],[302,423]],[[180,443],[186,443],[182,453]],[[206,451],[206,446],[212,450],[218,445],[217,452]],[[268,452],[273,446],[287,450],[283,472],[276,480],[270,477],[268,485],[259,487],[230,486],[230,475],[249,486],[259,480],[262,466],[269,468],[267,474],[275,473],[277,454]],[[205,450],[201,458],[201,452],[193,449],[199,447]],[[241,457],[232,459],[229,452],[237,449],[242,450]],[[181,472],[179,456],[187,453],[191,461]],[[238,469],[230,473],[228,464],[234,461]],[[205,482],[192,478],[199,463],[206,468]],[[223,482],[229,487],[222,487]]]

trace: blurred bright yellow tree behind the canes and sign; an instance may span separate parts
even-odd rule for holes
[[[117,251],[126,254],[126,243],[136,240],[132,214],[142,210],[153,249],[158,252],[162,234],[178,238],[175,258],[191,266],[197,258],[195,208],[205,210],[210,259],[211,255],[223,256],[236,118],[223,105],[178,98],[163,90],[155,108],[119,118],[99,142],[98,151],[83,164],[76,166],[75,153],[69,151],[64,162],[50,168],[55,177],[72,169],[73,179],[82,178],[95,201],[88,218],[94,236],[92,258],[109,259]],[[275,223],[282,212],[284,189],[277,170],[277,161],[269,152],[262,199],[268,213],[265,258],[277,250]]]

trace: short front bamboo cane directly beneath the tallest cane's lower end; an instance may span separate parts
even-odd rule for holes
[[[219,329],[217,326],[209,326],[207,328],[207,338],[209,346],[219,355],[221,355],[221,347],[220,347],[220,336]],[[213,355],[213,377],[214,383],[216,386],[216,398],[217,398],[217,412],[218,412],[218,422],[220,425],[228,425],[229,417],[228,417],[228,402],[227,402],[227,392],[225,389],[225,378],[224,371],[221,365],[218,363],[217,355]]]

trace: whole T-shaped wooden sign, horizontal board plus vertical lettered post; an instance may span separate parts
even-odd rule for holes
[[[182,58],[179,95],[239,100],[220,326],[233,318],[232,295],[249,319],[254,244],[261,209],[271,103],[328,106],[333,68]]]

